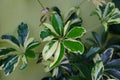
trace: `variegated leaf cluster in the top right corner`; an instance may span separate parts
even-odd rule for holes
[[[108,2],[104,6],[98,6],[95,14],[99,16],[105,30],[107,30],[111,24],[120,23],[120,11],[118,8],[115,8],[114,3],[112,2]]]

